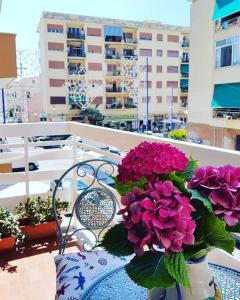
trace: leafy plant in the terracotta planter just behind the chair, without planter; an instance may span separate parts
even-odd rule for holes
[[[60,218],[60,213],[69,207],[68,201],[61,201],[59,198],[55,201],[57,214]],[[20,202],[16,205],[16,214],[21,221],[21,225],[36,225],[45,222],[54,221],[52,197],[42,199],[28,198],[25,202]]]

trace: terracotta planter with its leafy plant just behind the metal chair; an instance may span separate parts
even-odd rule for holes
[[[56,199],[56,209],[61,220],[61,212],[69,207],[68,201]],[[16,206],[16,214],[20,228],[28,240],[54,236],[57,234],[57,224],[54,219],[52,198],[28,198]]]

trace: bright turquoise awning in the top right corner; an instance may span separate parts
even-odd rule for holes
[[[216,0],[212,20],[216,21],[240,11],[240,0]]]

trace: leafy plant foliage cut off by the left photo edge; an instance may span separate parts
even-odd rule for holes
[[[11,236],[16,237],[17,244],[24,239],[24,234],[19,228],[16,216],[8,209],[0,207],[0,239]]]

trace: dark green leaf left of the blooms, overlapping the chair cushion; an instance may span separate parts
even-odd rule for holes
[[[128,256],[134,253],[133,244],[128,241],[128,232],[123,224],[111,227],[99,246],[115,256]]]

